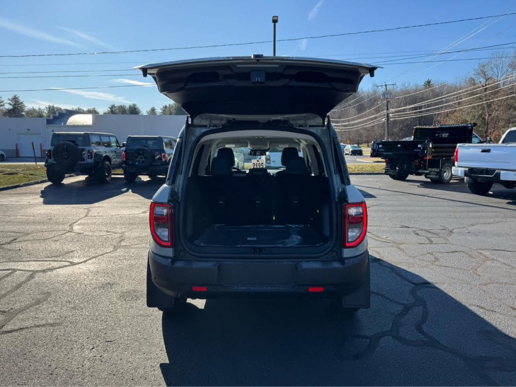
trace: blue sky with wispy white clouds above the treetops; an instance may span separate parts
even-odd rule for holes
[[[8,4],[8,5],[7,5]],[[271,16],[278,15],[278,39],[338,34],[348,31],[424,24],[516,11],[516,2],[491,1],[18,1],[3,5],[0,14],[0,55],[99,52],[153,49],[268,40]],[[481,28],[481,30],[479,30]],[[477,31],[476,34],[470,34]],[[460,41],[461,38],[463,41]],[[453,50],[516,41],[516,15],[387,33],[363,34],[298,42],[279,42],[277,55],[325,57],[378,63],[397,52]],[[508,50],[508,52],[512,50]],[[460,54],[454,59],[490,56],[494,51]],[[219,47],[118,55],[0,58],[0,72],[120,70],[83,72],[77,78],[1,79],[0,90],[122,86],[152,82],[129,70],[148,62],[186,58],[272,53],[272,46]],[[451,58],[455,54],[440,56]],[[390,56],[389,58],[378,58]],[[415,55],[414,55],[415,56]],[[376,59],[375,59],[376,58]],[[424,59],[424,58],[422,58]],[[433,60],[438,59],[434,58]],[[421,60],[421,59],[415,59]],[[127,63],[106,63],[127,62]],[[80,64],[78,64],[80,63]],[[375,83],[421,84],[425,79],[454,80],[471,73],[477,61],[391,65],[367,77],[362,89]],[[23,65],[23,66],[21,66]],[[47,66],[36,66],[47,65]],[[55,73],[46,75],[66,75]],[[125,74],[125,75],[117,75]],[[126,75],[131,74],[131,75]],[[134,75],[132,75],[134,74]],[[37,76],[45,74],[2,74]],[[7,100],[12,93],[0,93]],[[155,86],[75,91],[20,92],[29,106],[96,107],[137,103],[142,110],[170,102]]]

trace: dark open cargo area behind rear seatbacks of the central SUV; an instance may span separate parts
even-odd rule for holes
[[[190,176],[185,196],[189,243],[203,247],[325,244],[330,237],[328,179],[306,171],[289,172],[273,175],[263,168]]]

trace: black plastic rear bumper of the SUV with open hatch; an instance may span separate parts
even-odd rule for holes
[[[368,261],[368,251],[338,261],[181,261],[149,251],[154,284],[170,296],[188,298],[347,295],[368,278]],[[192,286],[207,291],[192,291]],[[324,292],[309,293],[311,286]]]

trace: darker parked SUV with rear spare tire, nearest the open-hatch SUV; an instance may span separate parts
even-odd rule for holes
[[[138,175],[166,176],[176,142],[169,136],[128,136],[122,153],[125,181],[133,183]]]

